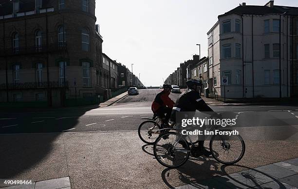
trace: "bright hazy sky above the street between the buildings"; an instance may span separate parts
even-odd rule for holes
[[[146,86],[159,86],[193,54],[207,56],[207,31],[217,16],[246,2],[269,0],[96,0],[103,52],[123,63]],[[298,6],[298,0],[275,0]]]

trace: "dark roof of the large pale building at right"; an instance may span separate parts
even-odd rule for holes
[[[239,5],[238,7],[224,13],[223,15],[229,14],[240,14],[240,15],[267,15],[267,14],[283,14],[291,16],[298,15],[298,7],[287,7],[287,6],[278,6],[274,5],[273,7],[269,6],[259,6],[259,5]]]

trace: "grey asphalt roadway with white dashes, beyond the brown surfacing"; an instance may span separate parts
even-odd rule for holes
[[[140,90],[110,107],[79,107],[33,112],[1,112],[0,134],[59,133],[96,131],[135,131],[143,121],[152,117],[151,103],[160,89]],[[179,94],[170,94],[175,101]],[[295,106],[211,106],[230,118],[237,118],[238,127],[298,126],[298,107]]]

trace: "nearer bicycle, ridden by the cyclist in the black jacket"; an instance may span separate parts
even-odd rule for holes
[[[210,130],[215,127],[212,126]],[[165,167],[176,168],[182,166],[188,160],[190,153],[194,153],[197,146],[195,146],[194,142],[192,142],[189,135],[183,137],[181,133],[182,129],[172,129],[177,132],[167,132],[160,135],[153,146],[154,156],[157,161]],[[223,129],[221,131],[230,131],[229,129]],[[240,135],[232,135],[237,137],[237,140],[228,140],[226,136],[221,135],[213,135],[209,142],[209,149],[211,155],[218,162],[223,163],[225,165],[231,165],[240,161],[245,153],[245,143]],[[187,142],[188,140],[189,142]],[[170,142],[169,142],[170,141]],[[199,140],[198,140],[199,141]],[[196,141],[196,142],[198,142]],[[239,154],[233,152],[232,145],[240,142],[240,151]],[[216,146],[218,145],[218,146]],[[235,147],[235,146],[234,146]],[[236,146],[238,147],[238,146]],[[220,155],[216,150],[222,150],[223,155]],[[229,151],[231,150],[231,151]],[[231,152],[231,153],[229,153]],[[227,157],[224,160],[224,155],[231,154],[236,158],[227,161]],[[223,159],[222,159],[223,157]],[[167,163],[168,162],[168,163]]]

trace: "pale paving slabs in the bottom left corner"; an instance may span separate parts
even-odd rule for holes
[[[4,187],[2,189],[71,189],[71,185],[69,177],[64,177],[33,182],[29,185],[16,185]]]

